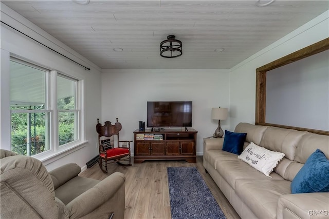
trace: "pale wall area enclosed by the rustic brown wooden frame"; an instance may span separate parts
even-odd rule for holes
[[[265,121],[329,131],[329,50],[267,72]]]

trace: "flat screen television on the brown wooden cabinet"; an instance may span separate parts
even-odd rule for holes
[[[148,102],[147,127],[192,127],[192,101]]]

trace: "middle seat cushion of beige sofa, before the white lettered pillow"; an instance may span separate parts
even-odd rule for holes
[[[266,180],[268,178],[263,173],[255,170],[250,165],[245,162],[239,160],[237,155],[235,155],[234,159],[231,160],[217,160],[216,163],[217,171],[220,173],[225,181],[235,189],[235,181],[241,179],[257,179],[257,180]],[[283,178],[277,174],[272,172],[270,176],[276,180],[283,180]]]

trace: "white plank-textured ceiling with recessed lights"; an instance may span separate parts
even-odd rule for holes
[[[103,69],[231,68],[329,9],[328,1],[2,2]],[[182,41],[180,57],[160,56],[168,35]]]

